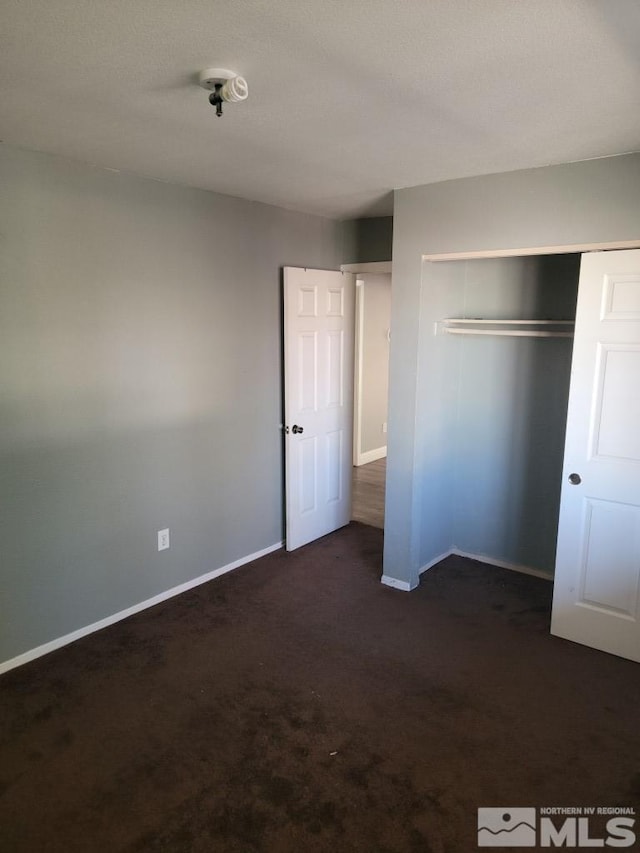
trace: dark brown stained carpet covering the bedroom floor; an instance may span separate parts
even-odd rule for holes
[[[382,531],[278,552],[0,678],[0,849],[476,849],[478,806],[640,809],[640,670],[551,584]]]

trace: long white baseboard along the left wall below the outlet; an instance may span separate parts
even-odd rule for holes
[[[43,643],[41,646],[36,646],[34,649],[30,649],[27,652],[23,652],[21,655],[17,655],[14,658],[0,662],[0,675],[3,672],[8,672],[10,669],[15,669],[17,666],[22,666],[22,664],[29,663],[29,661],[42,657],[42,655],[47,655],[49,652],[54,652],[56,649],[60,649],[69,643],[73,643],[81,637],[86,637],[88,634],[93,634],[95,631],[101,631],[103,628],[107,628],[115,622],[120,622],[128,616],[133,616],[141,610],[146,610],[148,607],[161,604],[169,598],[173,598],[174,596],[187,592],[196,586],[200,586],[200,584],[207,583],[207,581],[218,578],[220,575],[231,572],[240,566],[246,565],[247,563],[252,563],[254,560],[260,559],[260,557],[266,557],[267,554],[271,554],[273,551],[278,551],[283,545],[283,542],[276,542],[275,545],[269,545],[268,548],[263,548],[261,551],[256,551],[254,554],[248,554],[246,557],[240,557],[239,560],[234,560],[233,563],[228,563],[226,566],[221,566],[219,569],[213,569],[211,572],[207,572],[206,574],[193,578],[190,581],[185,581],[185,583],[181,583],[178,586],[167,589],[165,592],[154,595],[152,598],[147,598],[146,601],[141,601],[139,604],[127,607],[126,610],[120,610],[118,613],[106,616],[98,622],[93,622],[91,625],[86,625],[84,628],[78,628],[77,631],[72,631],[70,634],[65,634],[62,637],[58,637],[48,643]]]

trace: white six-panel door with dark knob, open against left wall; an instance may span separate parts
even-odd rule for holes
[[[351,519],[355,281],[285,267],[286,548]]]

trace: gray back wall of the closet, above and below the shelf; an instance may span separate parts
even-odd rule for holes
[[[579,264],[579,255],[463,262],[460,314],[573,319]],[[572,341],[470,335],[456,347],[453,544],[552,574]],[[428,552],[431,526],[422,520]]]

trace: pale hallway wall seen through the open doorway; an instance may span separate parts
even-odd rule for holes
[[[391,274],[358,278],[364,290],[360,450],[367,453],[387,443],[382,424],[388,420]]]

